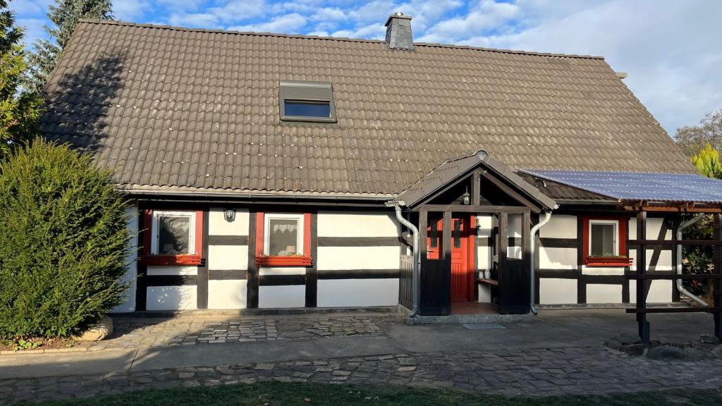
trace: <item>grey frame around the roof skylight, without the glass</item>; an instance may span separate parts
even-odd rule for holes
[[[286,114],[286,102],[295,103],[329,103],[329,116],[291,116]],[[279,113],[281,121],[306,123],[336,123],[336,103],[334,87],[329,82],[302,82],[297,80],[281,80],[279,82]]]

